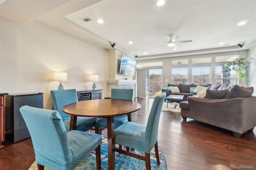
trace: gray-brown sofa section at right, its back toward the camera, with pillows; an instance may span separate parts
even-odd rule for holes
[[[212,88],[211,88],[212,87]],[[189,96],[180,102],[181,116],[231,130],[236,137],[256,126],[253,87],[213,85],[204,98]]]

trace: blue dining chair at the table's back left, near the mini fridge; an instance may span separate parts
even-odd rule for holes
[[[52,90],[52,104],[53,109],[60,113],[60,116],[63,120],[66,131],[69,131],[70,128],[70,115],[63,112],[63,107],[78,102],[76,89],[67,89],[67,90]],[[95,117],[77,117],[76,130],[87,131],[92,127],[95,127],[95,121],[98,118]]]

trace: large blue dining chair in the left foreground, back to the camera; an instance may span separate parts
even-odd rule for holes
[[[100,163],[100,134],[71,130],[66,132],[58,111],[22,106],[20,113],[30,132],[38,170],[73,170],[96,149],[96,166]]]

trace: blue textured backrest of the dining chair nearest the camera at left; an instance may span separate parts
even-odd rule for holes
[[[36,160],[68,164],[72,160],[66,129],[58,111],[22,106],[20,113],[28,127]]]

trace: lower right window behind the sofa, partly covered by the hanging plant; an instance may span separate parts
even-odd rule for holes
[[[224,65],[216,65],[215,71],[216,84],[237,84],[237,72],[235,70],[225,71]]]

